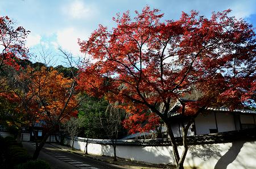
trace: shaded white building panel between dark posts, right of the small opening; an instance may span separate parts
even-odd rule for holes
[[[234,116],[228,113],[216,113],[218,132],[228,132],[236,130]]]

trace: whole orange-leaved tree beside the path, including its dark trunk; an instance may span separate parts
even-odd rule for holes
[[[26,116],[31,128],[36,121],[43,120],[46,124],[47,132],[33,155],[36,159],[48,136],[59,131],[60,122],[77,116],[75,80],[64,78],[57,70],[44,66],[40,70],[28,66],[14,78],[5,98],[18,104],[16,112]]]

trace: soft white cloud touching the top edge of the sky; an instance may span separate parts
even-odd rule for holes
[[[72,1],[63,7],[64,14],[72,19],[89,19],[97,13],[96,7],[86,4],[80,0]]]

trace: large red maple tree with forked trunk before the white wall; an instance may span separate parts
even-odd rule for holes
[[[81,68],[79,84],[128,111],[135,107],[158,115],[168,128],[177,168],[183,168],[193,118],[205,107],[243,107],[255,94],[253,26],[229,16],[230,10],[213,12],[209,19],[183,12],[179,20],[165,22],[157,9],[135,12],[134,19],[129,11],[113,18],[112,31],[100,25],[89,40],[79,40],[81,52],[93,58]],[[176,102],[180,109],[172,107]],[[174,112],[188,119],[182,154],[171,128]]]

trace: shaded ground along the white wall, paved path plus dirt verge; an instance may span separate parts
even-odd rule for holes
[[[35,150],[35,143],[33,142],[23,142],[23,147],[28,150],[28,154],[33,154]],[[117,162],[113,161],[113,157],[100,156],[100,155],[86,155],[84,152],[79,150],[71,150],[71,147],[57,145],[55,143],[46,143],[43,149],[40,151],[39,159],[46,160],[51,168],[74,168],[76,164],[71,164],[69,162],[76,162],[81,164],[88,164],[90,167],[81,168],[91,168],[91,169],[105,169],[105,168],[163,168],[163,165],[149,164],[144,162],[134,162],[127,159],[118,158]],[[72,159],[72,161],[67,162],[65,159]],[[173,167],[175,168],[175,167]]]

